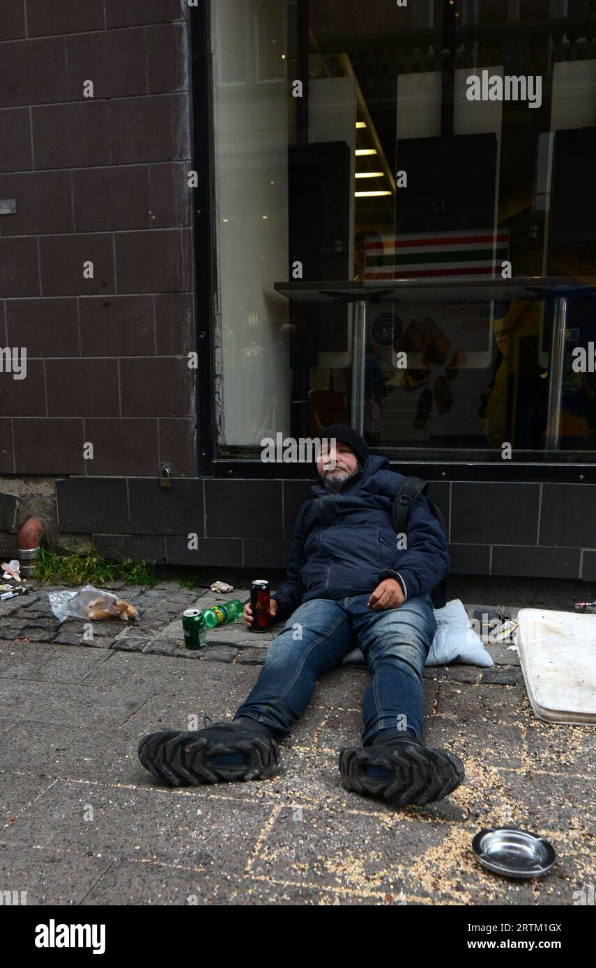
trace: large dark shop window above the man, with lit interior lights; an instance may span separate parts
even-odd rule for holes
[[[218,455],[340,421],[402,459],[593,461],[593,5],[211,12]],[[573,284],[564,315],[481,291],[509,264]]]

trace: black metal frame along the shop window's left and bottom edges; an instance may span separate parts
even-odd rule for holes
[[[307,464],[264,464],[256,458],[224,456],[217,452],[215,432],[214,327],[217,320],[215,240],[215,164],[213,128],[213,76],[211,64],[211,0],[189,7],[192,166],[198,172],[198,188],[192,212],[194,240],[194,318],[199,366],[197,371],[197,437],[199,474],[214,478],[297,480],[314,478]],[[198,119],[199,122],[198,123]],[[227,448],[229,451],[233,448]],[[388,448],[372,453],[387,456],[392,467],[434,481],[547,481],[596,483],[596,464],[580,463],[579,451],[559,452],[567,459],[549,460],[548,452],[527,453],[518,460],[496,461],[494,455],[478,458],[470,451],[424,448]],[[515,451],[514,451],[515,454]]]

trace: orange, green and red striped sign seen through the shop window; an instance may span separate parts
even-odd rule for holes
[[[508,257],[508,228],[371,235],[364,240],[364,279],[490,276]]]

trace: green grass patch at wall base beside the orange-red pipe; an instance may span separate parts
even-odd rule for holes
[[[100,558],[95,548],[88,555],[56,555],[53,551],[40,549],[40,558],[34,579],[50,585],[95,585],[99,588],[107,582],[126,582],[127,585],[155,585],[155,565],[148,561],[115,561]]]

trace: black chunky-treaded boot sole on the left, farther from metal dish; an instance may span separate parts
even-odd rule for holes
[[[213,762],[213,757],[241,754],[242,764]],[[227,742],[167,730],[150,733],[139,743],[145,770],[170,786],[201,786],[235,780],[267,779],[277,770],[279,746],[267,737],[243,737]]]

